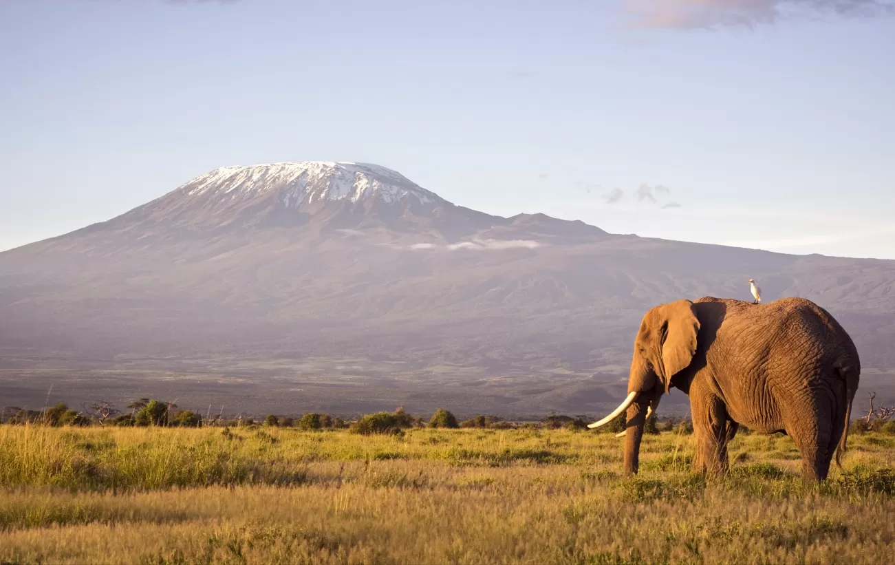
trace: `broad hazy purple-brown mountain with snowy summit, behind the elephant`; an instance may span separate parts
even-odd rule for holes
[[[118,218],[0,253],[0,370],[4,359],[20,371],[57,358],[254,382],[343,365],[439,386],[594,372],[611,381],[626,372],[647,308],[751,300],[748,278],[765,302],[800,295],[830,309],[868,371],[895,367],[895,261],[499,218],[371,165],[225,167]]]

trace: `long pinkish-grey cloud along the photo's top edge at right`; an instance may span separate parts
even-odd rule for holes
[[[626,11],[639,27],[708,29],[822,14],[874,17],[895,7],[880,0],[626,0]]]

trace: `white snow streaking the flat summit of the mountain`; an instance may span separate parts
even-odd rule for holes
[[[396,202],[405,197],[422,203],[441,199],[404,175],[368,163],[305,161],[247,167],[220,167],[183,184],[189,196],[251,198],[276,192],[287,208],[316,201],[359,202],[370,198]]]

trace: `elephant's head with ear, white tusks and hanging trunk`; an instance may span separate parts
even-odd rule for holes
[[[693,303],[678,300],[652,308],[640,322],[634,340],[634,358],[627,380],[627,398],[611,414],[588,427],[609,424],[627,411],[625,432],[625,472],[637,472],[640,440],[647,411],[655,411],[671,378],[686,369],[696,353],[699,320]]]

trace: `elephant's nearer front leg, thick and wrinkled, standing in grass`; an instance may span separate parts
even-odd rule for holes
[[[694,383],[690,389],[690,409],[693,414],[693,432],[696,436],[696,472],[711,476],[727,473],[729,439],[736,428],[728,425],[727,407],[709,390],[700,390]]]

